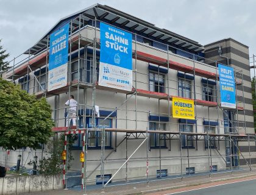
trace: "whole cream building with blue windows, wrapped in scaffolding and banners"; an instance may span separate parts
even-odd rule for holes
[[[96,4],[60,19],[11,63],[4,79],[47,98],[52,130],[65,133],[66,150],[67,135],[77,134],[73,165],[64,166],[66,187],[74,176],[85,186],[107,186],[256,163],[249,49],[232,38],[203,46]],[[231,67],[223,74],[232,73],[234,87],[223,87],[223,65]],[[235,94],[232,106],[223,106],[222,90]],[[69,104],[71,95],[77,105]]]

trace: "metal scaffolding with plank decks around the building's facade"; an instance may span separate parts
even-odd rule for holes
[[[244,111],[244,96],[238,96],[236,94],[236,108],[233,109],[233,119],[230,119],[229,116],[226,116],[227,113],[223,108],[220,107],[220,97],[219,97],[219,88],[218,88],[218,66],[217,62],[213,62],[208,59],[204,59],[203,57],[197,56],[196,54],[190,54],[192,57],[191,59],[181,57],[176,54],[172,54],[172,49],[178,49],[173,48],[172,46],[169,46],[168,44],[165,44],[166,51],[153,48],[151,46],[146,46],[145,44],[142,44],[137,41],[137,34],[134,35],[133,40],[133,88],[131,91],[123,91],[123,90],[116,90],[114,88],[107,88],[102,87],[98,85],[98,68],[99,68],[99,60],[97,53],[100,51],[101,48],[101,42],[98,38],[99,29],[98,24],[104,23],[104,21],[101,21],[101,19],[98,18],[90,18],[84,14],[80,14],[79,16],[76,16],[75,18],[71,19],[69,22],[69,62],[68,62],[68,85],[66,87],[60,88],[58,90],[54,91],[47,91],[47,74],[48,74],[48,51],[49,51],[49,35],[46,37],[46,46],[42,48],[37,53],[31,54],[30,49],[27,52],[28,57],[26,59],[23,59],[21,61],[16,61],[16,58],[13,59],[13,68],[9,71],[9,74],[7,73],[7,79],[12,79],[13,82],[23,76],[23,85],[25,90],[33,89],[33,93],[37,95],[38,98],[45,97],[49,98],[51,96],[54,96],[54,121],[55,121],[55,127],[52,129],[56,133],[64,132],[65,133],[65,150],[68,150],[68,135],[69,134],[81,134],[83,138],[82,142],[82,151],[85,154],[85,163],[81,165],[81,185],[82,189],[87,188],[87,185],[90,185],[91,183],[94,183],[97,179],[92,179],[91,176],[93,176],[94,172],[96,172],[99,168],[101,168],[101,177],[98,178],[99,181],[102,182],[102,188],[105,188],[108,186],[108,183],[112,181],[129,181],[129,180],[135,180],[135,179],[145,179],[145,176],[140,177],[129,177],[129,162],[136,162],[136,161],[145,161],[145,168],[146,168],[146,179],[142,182],[145,182],[146,185],[149,185],[149,182],[153,182],[155,178],[155,174],[149,174],[149,171],[151,169],[150,164],[154,163],[155,161],[158,162],[159,165],[159,175],[157,178],[163,179],[162,169],[163,161],[177,161],[180,162],[180,173],[178,174],[175,172],[174,174],[181,179],[186,176],[191,176],[192,172],[190,171],[190,165],[191,161],[194,161],[196,159],[207,159],[208,160],[208,168],[204,169],[201,172],[202,174],[205,174],[205,170],[207,170],[206,174],[210,177],[211,174],[215,174],[213,169],[213,160],[214,159],[221,159],[225,164],[226,167],[230,169],[230,172],[237,171],[233,170],[233,165],[235,165],[235,160],[238,158],[243,158],[246,161],[246,165],[251,170],[251,151],[249,151],[249,161],[246,160],[246,157],[241,153],[240,149],[238,148],[238,142],[240,141],[248,141],[250,146],[250,141],[255,141],[255,135],[252,135],[250,133],[246,132],[246,115]],[[87,28],[92,29],[93,31],[93,38],[84,37],[84,34],[82,33],[82,30]],[[141,35],[140,35],[141,36]],[[148,40],[150,38],[147,37]],[[154,40],[155,41],[155,40]],[[163,44],[163,43],[161,43]],[[147,51],[154,51],[155,55],[152,55],[150,52],[141,51],[141,46],[146,47]],[[91,52],[90,57],[88,56],[88,51]],[[74,56],[74,57],[73,57]],[[164,57],[165,56],[165,57]],[[189,65],[185,65],[184,63],[176,62],[175,59],[182,59],[187,62]],[[149,88],[152,84],[148,82],[142,82],[140,80],[140,77],[150,77],[148,73],[144,73],[141,71],[138,71],[140,69],[138,67],[138,61],[140,62],[146,62],[154,64],[154,67],[157,71],[155,71],[155,75],[158,78],[158,83],[154,83],[154,87],[157,88],[155,91],[151,90],[145,90]],[[203,61],[203,62],[202,62]],[[208,65],[210,63],[214,63],[215,66]],[[76,66],[77,68],[74,68]],[[212,71],[205,71],[205,69],[199,68],[201,67],[207,67],[207,69],[211,69]],[[42,74],[41,69],[45,69],[45,72]],[[163,77],[164,83],[166,85],[162,86],[160,83],[160,68],[167,70],[167,77]],[[35,70],[38,70],[35,74]],[[185,91],[185,95],[183,95],[182,98],[185,99],[191,99],[194,101],[195,104],[195,123],[193,126],[195,127],[195,132],[182,132],[179,130],[180,124],[184,124],[187,128],[189,125],[188,120],[185,120],[183,122],[173,122],[172,121],[172,114],[170,112],[171,109],[171,101],[172,98],[175,98],[176,96],[172,95],[172,91],[178,91],[179,93],[179,80],[172,79],[169,76],[169,71],[177,71],[176,73],[183,74],[183,83],[185,83],[185,87],[190,88],[190,91]],[[34,85],[30,87],[29,81],[33,79],[29,79],[29,75],[34,75]],[[41,77],[45,76],[45,82],[41,82]],[[187,83],[186,80],[188,76],[194,77],[193,82]],[[206,80],[206,89],[210,88],[210,82],[216,82],[216,88],[212,89],[214,93],[210,94],[209,90],[206,90],[207,93],[202,94],[201,92],[201,85],[196,85],[196,76],[197,77],[203,77]],[[243,72],[240,70],[235,69],[235,77],[236,77],[236,86],[242,85],[243,86]],[[239,77],[240,79],[238,79]],[[35,85],[35,83],[37,83]],[[175,83],[175,84],[174,84]],[[172,85],[174,84],[174,85]],[[175,86],[176,85],[176,86]],[[35,88],[37,90],[35,90]],[[198,88],[200,88],[199,92],[197,92]],[[95,119],[96,112],[95,112],[95,105],[96,105],[96,91],[110,91],[115,93],[120,93],[125,95],[125,100],[119,104],[116,105],[115,108],[112,107],[102,107],[105,109],[110,110],[107,116],[104,117],[104,119],[99,123],[96,124]],[[76,110],[76,126],[71,126],[70,122],[68,122],[68,126],[61,125],[66,124],[66,120],[69,121],[69,115],[68,117],[60,117],[60,112],[66,112],[65,107],[60,107],[60,94],[62,93],[68,93],[68,96],[70,96],[71,93],[76,93],[77,97],[77,110]],[[91,94],[91,104],[88,103],[87,94]],[[202,100],[202,96],[207,96],[207,99]],[[157,101],[158,107],[157,112],[151,112],[150,110],[139,110],[138,109],[138,98],[144,97],[144,98],[151,98],[155,99]],[[201,98],[199,98],[201,97]],[[134,101],[134,108],[128,108],[127,103],[130,101]],[[241,101],[242,100],[242,101]],[[167,109],[168,112],[161,112],[161,105],[162,102],[167,102]],[[207,116],[204,118],[199,117],[197,114],[199,113],[198,106],[201,106],[202,108],[206,108],[207,110]],[[90,113],[87,113],[87,110],[89,110]],[[212,118],[210,116],[210,111],[218,113],[217,118]],[[116,112],[123,112],[124,118],[120,118],[117,115],[112,117],[113,113]],[[238,121],[238,112],[243,112],[244,120]],[[129,118],[128,113],[133,113],[134,118]],[[221,119],[219,114],[223,113],[224,118]],[[155,128],[155,130],[152,130],[150,128],[150,121],[149,120],[143,120],[140,119],[140,115],[147,115],[147,116],[157,116],[156,124],[158,127]],[[241,115],[241,114],[240,114]],[[160,120],[161,117],[165,116],[168,118],[167,121]],[[88,124],[86,122],[86,119],[88,117],[91,117],[91,126],[88,127]],[[115,128],[107,128],[105,127],[104,121],[108,118],[112,117],[116,120],[116,127]],[[79,120],[82,119],[82,123],[79,123]],[[205,121],[204,125],[200,125],[197,121]],[[124,123],[125,128],[121,129],[117,127],[117,121],[121,121]],[[208,123],[207,123],[208,121]],[[210,132],[210,127],[213,127],[210,124],[210,121],[215,121],[218,123],[218,125],[214,126],[217,127],[216,132]],[[229,123],[229,127],[221,127],[220,124],[225,124],[225,122]],[[129,128],[129,124],[134,124],[133,128]],[[138,124],[143,124],[144,128],[141,128],[138,126]],[[165,124],[165,129],[162,128],[162,124]],[[199,132],[198,128],[202,127],[208,127],[204,132]],[[221,129],[223,128],[223,129]],[[226,128],[226,129],[225,129]],[[175,129],[175,130],[173,130]],[[109,152],[108,155],[105,155],[105,136],[106,133],[115,133],[115,146],[113,147],[112,151]],[[118,143],[117,136],[118,135],[124,135],[124,138],[121,139]],[[161,154],[163,147],[161,147],[161,144],[158,146],[158,157],[150,157],[149,152],[151,151],[151,144],[150,144],[150,137],[152,135],[157,135],[158,143],[165,142],[168,143],[168,149],[169,151],[172,151],[171,149],[171,143],[178,143],[179,145],[179,155],[177,156],[163,156]],[[92,139],[100,139],[101,140],[101,157],[97,160],[90,160],[90,157],[88,156],[88,146],[90,144],[90,140]],[[132,151],[132,154],[129,155],[129,146],[128,141],[130,140],[140,140],[140,143],[138,146],[135,147],[135,149]],[[183,141],[185,141],[187,144],[185,144],[185,147],[183,147]],[[222,154],[221,152],[221,142],[225,143],[226,148],[229,148],[229,154]],[[195,143],[195,151],[198,150],[198,143],[205,142],[205,151],[207,151],[207,155],[191,155],[190,153],[190,147],[188,143]],[[207,144],[206,144],[207,143]],[[115,153],[119,146],[122,144],[125,144],[125,158],[112,158],[108,160],[108,158]],[[144,151],[146,156],[140,157],[140,158],[132,158],[133,155],[138,151],[138,149],[141,149],[142,147],[145,147]],[[249,147],[250,148],[250,147]],[[235,152],[237,151],[237,152]],[[184,152],[186,153],[184,155]],[[68,151],[66,152],[66,161],[68,161]],[[88,173],[87,167],[88,163],[97,163],[98,165],[95,166],[95,168],[90,171],[90,174]],[[115,171],[115,173],[105,182],[105,165],[107,163],[121,163],[121,166]],[[170,163],[171,164],[171,163]],[[188,171],[184,172],[183,166],[188,166]],[[238,165],[239,167],[239,165]],[[116,179],[115,176],[118,174],[118,172],[121,169],[125,169],[125,175],[122,179]],[[225,168],[226,170],[226,168]],[[240,169],[238,169],[240,170]],[[68,182],[68,176],[67,176],[67,163],[64,166],[63,171],[63,184],[67,186]],[[168,174],[171,175],[171,174]],[[177,178],[177,177],[176,177]],[[170,178],[168,178],[170,179]]]

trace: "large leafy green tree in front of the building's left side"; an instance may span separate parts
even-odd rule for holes
[[[51,107],[45,98],[36,99],[0,77],[0,147],[36,148],[53,135]]]

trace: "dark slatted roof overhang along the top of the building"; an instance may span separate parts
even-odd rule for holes
[[[48,35],[50,35],[55,30],[62,27],[64,24],[73,20],[73,26],[79,25],[79,15],[84,15],[82,24],[87,24],[86,22],[90,19],[98,19],[99,21],[104,21],[106,23],[116,25],[120,28],[128,30],[130,32],[136,32],[137,34],[142,34],[148,38],[153,38],[154,40],[161,41],[166,44],[173,44],[179,46],[183,49],[187,49],[191,52],[204,51],[204,47],[196,41],[189,38],[183,37],[181,35],[175,34],[166,29],[160,29],[154,24],[139,19],[135,16],[129,15],[127,13],[116,10],[107,5],[94,4],[86,9],[80,10],[79,12],[68,15],[60,19],[32,48],[27,49],[24,54],[37,54],[38,52],[46,49],[48,43]],[[88,19],[86,19],[88,18]]]

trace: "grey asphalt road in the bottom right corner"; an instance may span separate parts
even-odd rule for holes
[[[163,195],[254,195],[256,194],[256,179],[220,184],[215,186],[200,187],[193,190],[166,193]]]

